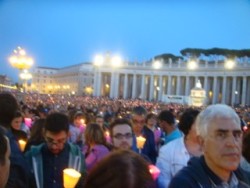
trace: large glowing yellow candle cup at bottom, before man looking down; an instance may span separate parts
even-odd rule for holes
[[[81,177],[81,174],[73,168],[63,170],[63,185],[64,188],[74,188]]]

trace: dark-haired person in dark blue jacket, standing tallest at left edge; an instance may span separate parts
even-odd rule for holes
[[[14,119],[19,106],[16,98],[11,93],[0,93],[0,129],[8,137],[10,143],[10,174],[6,188],[29,187],[30,174],[27,163],[19,149],[16,138],[10,131],[11,121]]]

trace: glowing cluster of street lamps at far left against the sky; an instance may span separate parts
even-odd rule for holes
[[[13,54],[9,57],[9,62],[13,68],[19,70],[19,76],[22,80],[27,80],[32,78],[32,75],[27,71],[30,69],[34,63],[33,58],[26,55],[26,51],[18,46],[13,50]]]

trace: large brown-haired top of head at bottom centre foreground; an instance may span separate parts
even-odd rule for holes
[[[145,159],[131,150],[117,150],[90,171],[84,187],[153,188],[155,186]]]

